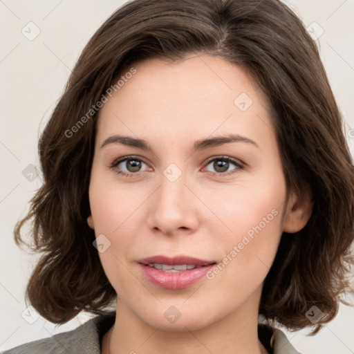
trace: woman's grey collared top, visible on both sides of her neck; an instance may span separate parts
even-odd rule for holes
[[[115,312],[100,313],[74,330],[21,344],[1,354],[100,354],[102,338],[114,322]],[[258,335],[269,353],[300,354],[278,328],[259,323]]]

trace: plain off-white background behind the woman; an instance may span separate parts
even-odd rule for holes
[[[17,248],[12,232],[41,185],[40,174],[33,173],[35,166],[39,166],[39,133],[84,45],[124,2],[0,1],[0,350],[75,328],[89,318],[83,314],[55,327],[26,310],[24,291],[37,256]],[[353,154],[354,1],[286,3],[318,37],[316,41],[346,120],[346,136]],[[307,337],[307,333],[308,330],[287,333],[301,353],[354,353],[354,308],[341,306],[337,317],[318,335]]]

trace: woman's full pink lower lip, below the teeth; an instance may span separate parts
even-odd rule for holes
[[[205,267],[183,270],[182,272],[165,272],[149,265],[139,263],[142,272],[147,280],[156,286],[166,289],[184,289],[194,285],[211,270],[215,264],[205,265]]]

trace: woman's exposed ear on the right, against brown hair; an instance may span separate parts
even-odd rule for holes
[[[305,227],[312,212],[313,200],[309,189],[306,190],[303,198],[291,192],[283,218],[283,231],[289,233],[300,231]]]

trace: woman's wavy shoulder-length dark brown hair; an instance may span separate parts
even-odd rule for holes
[[[41,135],[44,184],[15,228],[24,243],[20,229],[33,219],[32,249],[43,252],[26,298],[58,324],[115,299],[86,223],[99,111],[87,112],[123,68],[189,53],[223,57],[256,80],[272,107],[287,190],[302,196],[310,187],[313,214],[297,234],[283,233],[259,313],[297,330],[312,325],[306,311],[315,305],[324,313],[316,333],[335,317],[348,286],[354,168],[317,46],[277,0],[134,0],[95,32]]]

